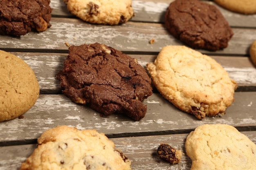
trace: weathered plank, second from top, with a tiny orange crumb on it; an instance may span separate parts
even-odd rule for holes
[[[256,40],[256,29],[233,28],[234,36],[223,50],[202,53],[249,55],[249,46]],[[154,39],[154,44],[149,40]],[[99,42],[121,51],[157,53],[166,45],[182,43],[166,31],[162,24],[127,22],[117,26],[88,24],[73,18],[52,18],[52,27],[44,32],[30,32],[20,38],[2,35],[0,49],[6,51],[58,52],[70,45]]]

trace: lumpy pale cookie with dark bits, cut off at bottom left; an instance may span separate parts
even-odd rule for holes
[[[131,170],[130,164],[103,133],[57,126],[38,138],[20,170]]]

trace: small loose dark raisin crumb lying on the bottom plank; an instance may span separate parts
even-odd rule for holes
[[[157,148],[157,155],[172,164],[180,163],[182,157],[182,151],[176,150],[168,144],[160,144]]]

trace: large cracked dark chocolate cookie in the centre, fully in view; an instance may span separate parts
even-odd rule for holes
[[[146,114],[142,100],[152,95],[151,79],[136,59],[104,44],[70,46],[57,79],[73,102],[134,120]]]

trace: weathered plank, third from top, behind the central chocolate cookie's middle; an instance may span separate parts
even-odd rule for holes
[[[56,74],[63,68],[67,53],[16,53],[34,70],[40,86],[41,94],[61,93]],[[146,67],[148,62],[154,62],[157,55],[130,55],[137,59],[139,64]],[[249,57],[211,56],[219,62],[229,73],[229,76],[238,83],[237,91],[256,91],[256,68]]]

